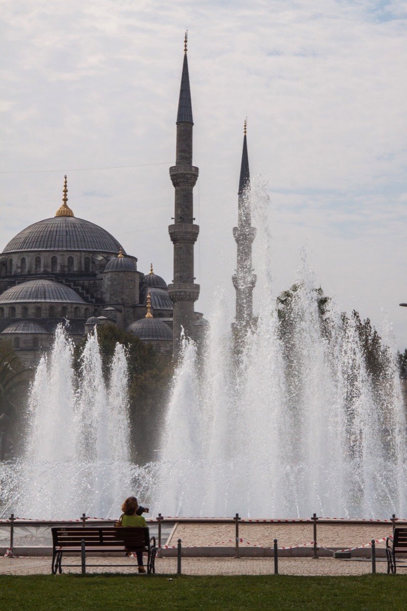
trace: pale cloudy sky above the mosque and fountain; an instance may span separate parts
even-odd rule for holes
[[[405,1],[2,0],[0,13],[0,251],[54,216],[67,174],[75,216],[171,282],[188,29],[196,309],[210,320],[220,290],[234,303],[247,117],[275,293],[305,249],[326,295],[378,329],[387,313],[407,347]]]

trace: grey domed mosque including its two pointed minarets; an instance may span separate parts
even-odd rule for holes
[[[137,258],[106,229],[74,216],[68,207],[67,177],[62,206],[54,217],[23,229],[0,255],[0,338],[12,340],[26,367],[34,367],[52,343],[57,324],[65,321],[74,342],[101,324],[116,324],[153,345],[160,353],[178,354],[181,330],[196,340],[206,321],[195,312],[200,286],[195,284],[193,247],[199,226],[193,218],[193,187],[199,170],[192,165],[192,103],[187,37],[176,119],[176,164],[170,167],[175,189],[173,282],[137,269]],[[246,129],[239,183],[236,287],[237,324],[251,317],[250,210],[243,202],[249,181]],[[242,306],[242,303],[244,305]],[[239,305],[240,304],[240,305]]]

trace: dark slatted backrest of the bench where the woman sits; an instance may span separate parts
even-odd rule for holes
[[[141,526],[54,526],[51,531],[54,547],[80,547],[84,540],[86,547],[149,549],[149,530]]]

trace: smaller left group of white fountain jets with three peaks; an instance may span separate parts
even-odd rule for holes
[[[117,517],[123,499],[134,492],[134,478],[142,480],[129,461],[123,346],[115,349],[107,383],[96,332],[88,336],[79,375],[72,357],[73,343],[61,325],[32,383],[25,455],[3,472],[3,514],[13,511],[34,519],[75,519],[84,512]]]

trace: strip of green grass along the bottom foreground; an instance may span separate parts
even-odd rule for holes
[[[406,604],[404,575],[0,576],[0,609],[7,611],[393,611]]]

